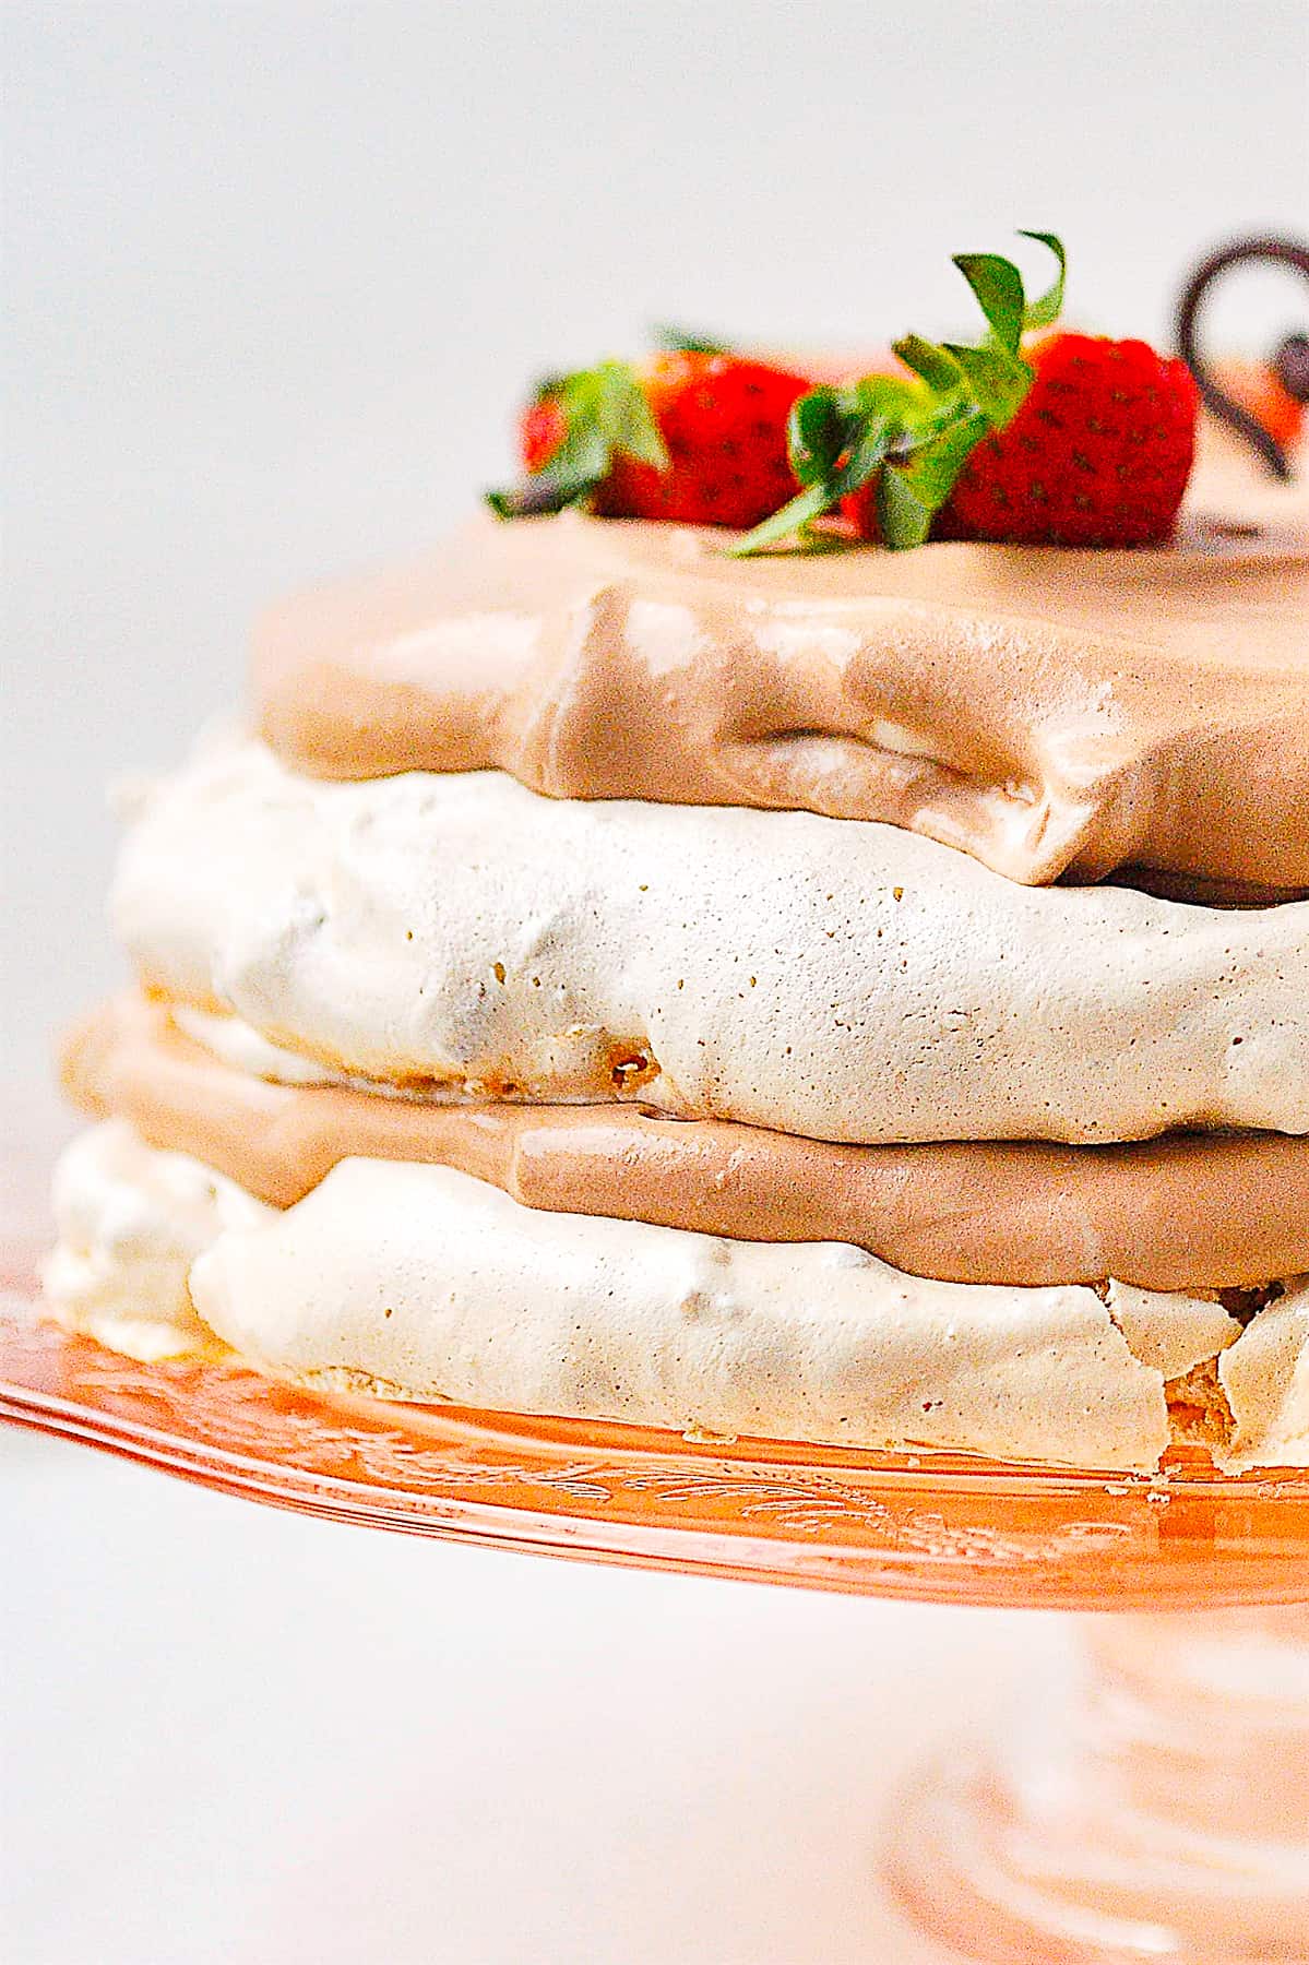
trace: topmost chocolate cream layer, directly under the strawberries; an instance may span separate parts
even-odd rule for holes
[[[1223,497],[1215,501],[1223,507]],[[1309,888],[1309,525],[1162,550],[731,560],[637,521],[470,523],[256,637],[261,735],[326,778],[884,819],[1024,884]],[[1272,890],[1272,894],[1270,894]]]

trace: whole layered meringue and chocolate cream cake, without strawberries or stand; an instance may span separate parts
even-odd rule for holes
[[[130,812],[51,1313],[385,1399],[1309,1462],[1309,525],[1205,491],[1130,550],[487,515],[273,609]]]

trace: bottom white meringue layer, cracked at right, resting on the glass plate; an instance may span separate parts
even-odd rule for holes
[[[1140,1470],[1169,1442],[1166,1376],[1217,1356],[1224,1464],[1309,1454],[1307,1279],[1242,1332],[1175,1293],[1107,1305],[1077,1285],[934,1283],[845,1244],[544,1214],[448,1167],[373,1159],[269,1210],[124,1122],[73,1144],[57,1199],[63,1244],[120,1277],[88,1307],[55,1258],[67,1322],[94,1315],[112,1344],[116,1303],[128,1334],[173,1320],[181,1350],[199,1311],[242,1358],[309,1385]]]

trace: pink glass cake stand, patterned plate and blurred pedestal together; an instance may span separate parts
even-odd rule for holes
[[[882,1867],[965,1959],[1309,1965],[1309,1470],[1160,1478],[680,1438],[134,1364],[0,1295],[0,1415],[409,1535],[1081,1617],[1083,1670],[928,1765]],[[1185,1613],[1185,1615],[1181,1615]]]

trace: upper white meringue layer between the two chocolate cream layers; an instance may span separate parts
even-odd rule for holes
[[[147,988],[446,1096],[849,1144],[1309,1132],[1307,902],[1030,890],[890,825],[242,743],[145,796],[114,916]]]

